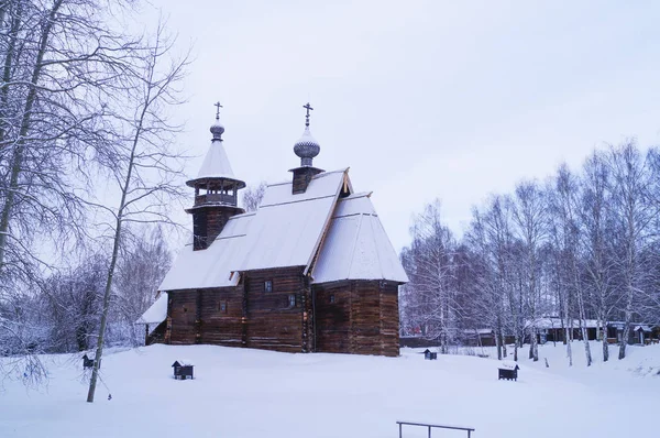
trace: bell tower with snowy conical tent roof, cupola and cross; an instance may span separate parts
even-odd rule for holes
[[[222,134],[224,127],[220,123],[220,102],[217,107],[216,122],[211,125],[211,145],[201,168],[195,179],[186,182],[195,188],[195,205],[186,212],[193,215],[193,249],[206,250],[220,234],[224,225],[234,215],[245,212],[238,207],[238,193],[245,187],[245,182],[237,179],[224,152]]]

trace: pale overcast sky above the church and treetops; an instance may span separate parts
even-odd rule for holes
[[[457,234],[473,205],[660,136],[660,2],[163,0],[194,46],[177,118],[206,153],[213,102],[249,185],[290,178],[309,99],[315,165],[350,166],[397,250],[438,197]],[[189,202],[193,202],[190,194]],[[182,220],[191,222],[182,213]]]

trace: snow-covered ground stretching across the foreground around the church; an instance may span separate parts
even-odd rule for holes
[[[518,382],[508,382],[497,380],[496,360],[425,361],[409,349],[392,359],[153,346],[107,355],[112,399],[99,384],[94,404],[79,355],[51,357],[46,387],[3,382],[0,437],[385,438],[398,436],[396,420],[469,426],[477,438],[657,437],[660,346],[630,347],[608,363],[592,347],[596,363],[586,369],[574,342],[569,369],[564,346],[541,346],[541,360],[521,360]],[[182,358],[195,363],[194,381],[172,379]]]

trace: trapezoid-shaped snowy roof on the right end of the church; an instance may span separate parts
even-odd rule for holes
[[[370,195],[352,195],[338,202],[311,274],[315,283],[342,280],[408,282]]]

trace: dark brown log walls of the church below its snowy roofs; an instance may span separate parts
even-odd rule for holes
[[[265,288],[267,281],[272,282],[271,292]],[[162,337],[166,343],[399,354],[396,283],[310,285],[302,267],[288,267],[246,272],[235,287],[168,294]],[[293,306],[290,296],[295,297]]]

